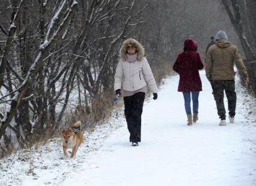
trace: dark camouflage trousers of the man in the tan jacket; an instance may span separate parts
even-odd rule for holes
[[[211,84],[219,118],[226,119],[224,91],[228,99],[229,115],[234,117],[236,115],[236,92],[234,80],[212,80]]]

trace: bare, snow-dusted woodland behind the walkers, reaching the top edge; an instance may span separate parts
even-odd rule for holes
[[[254,0],[0,0],[0,157],[108,118],[121,43],[145,47],[157,83],[185,38],[204,61],[220,29],[239,47],[256,93]],[[252,93],[253,94],[253,93]]]

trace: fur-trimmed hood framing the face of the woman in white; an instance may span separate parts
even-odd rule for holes
[[[139,43],[137,40],[133,39],[133,38],[129,38],[127,40],[125,40],[121,46],[120,49],[120,58],[123,61],[126,61],[126,49],[128,46],[135,46],[136,47],[136,52],[137,52],[137,59],[138,61],[141,61],[144,57],[144,47],[142,47],[141,43]]]

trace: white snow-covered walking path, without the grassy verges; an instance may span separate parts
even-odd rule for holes
[[[204,72],[201,78],[197,124],[186,125],[183,96],[177,92],[178,76],[170,77],[159,98],[144,105],[138,147],[130,145],[124,124],[105,141],[90,164],[83,165],[84,170],[73,173],[61,185],[256,185],[256,154],[244,138],[241,101],[235,123],[219,126]]]

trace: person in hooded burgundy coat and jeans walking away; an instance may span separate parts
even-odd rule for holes
[[[183,52],[178,55],[173,70],[180,75],[178,82],[178,92],[183,93],[185,110],[187,114],[187,125],[192,125],[198,120],[198,96],[202,91],[202,82],[198,70],[204,68],[200,55],[197,52],[197,43],[192,39],[184,41]],[[193,102],[193,120],[190,108],[192,95]]]

